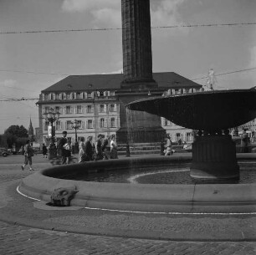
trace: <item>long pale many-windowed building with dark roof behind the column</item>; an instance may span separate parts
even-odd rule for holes
[[[202,90],[200,84],[176,73],[155,73],[153,77],[163,95]],[[71,75],[42,90],[37,102],[40,143],[49,144],[49,122],[44,119],[44,114],[51,109],[60,113],[59,120],[54,122],[56,140],[64,130],[72,142],[75,135],[78,140],[92,136],[95,143],[99,134],[116,134],[120,129],[120,114],[124,114],[120,113],[120,107],[124,105],[116,95],[122,80],[123,74]],[[150,90],[148,96],[151,96]],[[171,135],[172,141],[179,138],[192,141],[192,130],[174,125],[164,118],[161,118],[161,126]]]

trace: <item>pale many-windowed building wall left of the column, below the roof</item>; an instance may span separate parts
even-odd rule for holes
[[[43,141],[47,144],[49,139],[48,125],[44,120],[44,113],[53,108],[59,111],[59,120],[54,122],[55,137],[58,140],[62,136],[62,132],[68,132],[67,137],[74,142],[75,130],[74,120],[79,124],[76,129],[78,140],[80,137],[85,139],[88,136],[93,137],[93,142],[97,135],[112,135],[120,128],[119,103],[113,96],[110,98],[109,93],[105,92],[102,97],[98,95],[86,100],[87,93],[79,93],[77,98],[76,93],[59,93],[58,99],[56,94],[44,94],[42,99],[44,105],[39,105],[42,108],[42,126]],[[68,101],[72,100],[72,101]],[[39,111],[40,112],[40,111]]]

